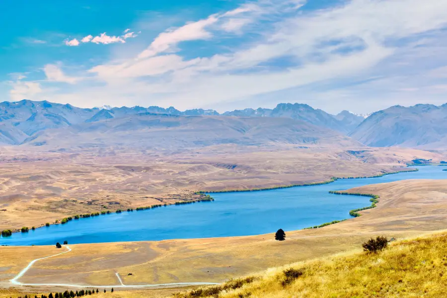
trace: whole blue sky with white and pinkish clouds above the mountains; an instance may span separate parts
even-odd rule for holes
[[[441,105],[446,11],[447,0],[3,0],[0,101]]]

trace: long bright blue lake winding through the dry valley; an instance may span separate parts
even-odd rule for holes
[[[214,202],[172,205],[53,224],[0,237],[0,245],[46,245],[255,235],[296,230],[351,218],[370,198],[329,194],[362,185],[405,179],[447,179],[446,167],[420,166],[418,172],[276,190],[211,194]]]

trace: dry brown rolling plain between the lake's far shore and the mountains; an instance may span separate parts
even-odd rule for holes
[[[443,152],[222,145],[164,153],[129,148],[0,148],[0,230],[67,216],[197,199],[198,190],[262,188],[395,171]]]

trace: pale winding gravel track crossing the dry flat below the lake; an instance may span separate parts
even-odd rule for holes
[[[30,268],[31,266],[33,266],[34,263],[36,263],[39,260],[43,260],[43,259],[48,259],[48,258],[52,258],[52,257],[56,257],[59,256],[61,254],[67,253],[72,251],[72,249],[70,248],[70,246],[65,246],[67,247],[68,250],[52,255],[52,256],[48,256],[48,257],[44,257],[44,258],[39,258],[39,259],[35,259],[33,261],[31,261],[28,266],[26,266],[24,269],[22,269],[22,271],[19,272],[19,274],[17,274],[13,279],[11,279],[9,282],[13,285],[17,285],[17,286],[42,286],[42,287],[71,287],[71,288],[155,288],[155,287],[164,287],[164,286],[203,286],[203,285],[219,285],[219,283],[168,283],[168,284],[149,284],[149,285],[125,285],[123,284],[123,281],[121,280],[120,275],[117,273],[115,273],[116,277],[118,278],[118,281],[120,282],[119,285],[75,285],[75,284],[27,284],[27,283],[21,283],[18,281],[19,278],[21,278]]]

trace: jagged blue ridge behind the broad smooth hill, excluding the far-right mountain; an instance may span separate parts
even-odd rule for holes
[[[111,107],[103,105],[100,108],[77,108],[70,104],[51,103],[48,101],[21,100],[18,102],[0,103],[0,144],[18,145],[48,129],[71,127],[80,123],[93,123],[107,119],[130,117],[138,114],[166,114],[177,116],[234,116],[234,117],[271,117],[292,118],[312,125],[324,127],[347,134],[351,131],[351,123],[338,120],[336,116],[319,109],[313,109],[307,104],[280,103],[274,109],[234,110],[219,114],[215,110],[191,109],[179,111],[174,107],[147,108]],[[30,138],[31,137],[31,138]]]

